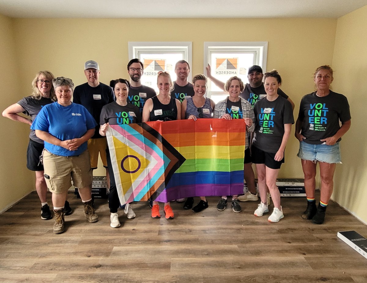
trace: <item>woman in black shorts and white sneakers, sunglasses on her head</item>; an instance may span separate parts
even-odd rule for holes
[[[291,103],[277,94],[281,77],[277,71],[265,73],[266,97],[255,103],[256,127],[251,146],[252,163],[256,164],[261,203],[254,214],[262,216],[269,211],[266,200],[267,187],[274,203],[270,222],[284,217],[280,206],[280,193],[276,186],[279,169],[284,163],[284,150],[294,123]]]

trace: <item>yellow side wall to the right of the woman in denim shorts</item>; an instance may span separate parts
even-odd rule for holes
[[[338,19],[333,56],[333,89],[348,97],[352,127],[342,138],[342,161],[332,199],[367,223],[367,6]]]

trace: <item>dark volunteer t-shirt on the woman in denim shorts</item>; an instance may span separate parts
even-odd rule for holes
[[[316,92],[306,94],[299,106],[298,119],[303,121],[301,134],[306,137],[304,142],[322,144],[320,139],[337,133],[339,120],[342,123],[350,120],[348,99],[334,91],[324,97],[317,96]]]

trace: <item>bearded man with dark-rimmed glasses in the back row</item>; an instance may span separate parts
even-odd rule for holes
[[[130,88],[127,101],[137,106],[140,114],[143,113],[145,101],[156,96],[156,91],[141,84],[141,76],[144,72],[144,64],[137,58],[131,59],[127,64],[127,72],[130,76]]]

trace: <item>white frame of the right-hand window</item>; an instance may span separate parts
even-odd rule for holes
[[[266,72],[266,59],[268,55],[268,41],[247,41],[247,42],[204,42],[204,66],[203,72],[206,74],[206,67],[210,62],[210,53],[212,51],[255,51],[255,63],[254,65],[261,66],[263,72]],[[212,69],[213,71],[213,69]],[[207,97],[211,97],[213,94],[226,94],[224,91],[211,91],[208,87]]]

